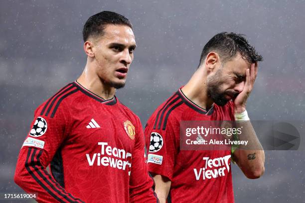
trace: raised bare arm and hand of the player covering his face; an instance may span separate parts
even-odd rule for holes
[[[242,118],[243,113],[246,112],[246,102],[253,89],[257,70],[257,63],[251,64],[250,69],[247,69],[244,89],[233,101],[235,118],[237,118],[236,120],[238,120],[238,116],[240,115]],[[235,124],[236,128],[242,126],[242,133],[238,135],[239,140],[247,140],[249,142],[246,147],[237,148],[233,152],[233,160],[237,163],[247,178],[259,178],[265,172],[264,149],[256,136],[250,120],[237,121]]]

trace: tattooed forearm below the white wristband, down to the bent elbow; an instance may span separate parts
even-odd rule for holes
[[[256,136],[250,120],[237,121],[236,128],[242,129],[238,136],[239,140],[248,141],[248,143],[247,145],[240,145],[234,151],[233,159],[248,178],[259,178],[265,171],[264,149]]]

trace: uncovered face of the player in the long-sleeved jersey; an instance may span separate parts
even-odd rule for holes
[[[93,40],[93,44],[96,74],[104,84],[123,88],[136,48],[133,30],[126,25],[108,24],[104,35]]]

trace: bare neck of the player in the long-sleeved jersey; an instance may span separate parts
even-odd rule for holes
[[[106,85],[93,70],[93,67],[90,67],[87,63],[77,82],[104,100],[112,99],[116,93],[116,89]]]

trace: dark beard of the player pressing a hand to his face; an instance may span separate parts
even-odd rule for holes
[[[207,93],[214,103],[219,106],[224,106],[230,100],[225,98],[225,92],[221,90],[223,84],[221,69],[219,69],[213,76],[207,79]]]

